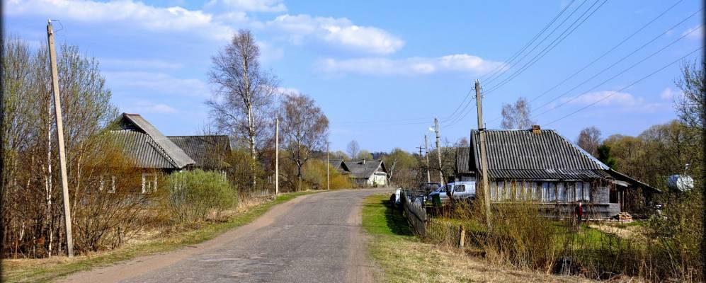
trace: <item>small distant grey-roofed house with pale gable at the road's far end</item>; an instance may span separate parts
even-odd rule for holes
[[[330,160],[331,166],[353,180],[360,187],[386,187],[387,167],[382,160]]]

